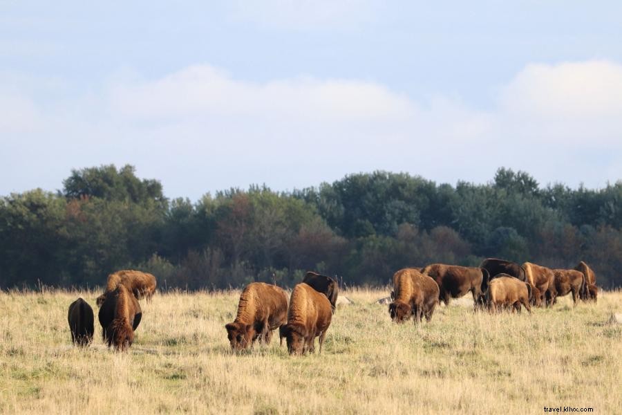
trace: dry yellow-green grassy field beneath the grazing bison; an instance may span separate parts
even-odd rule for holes
[[[234,355],[224,324],[239,292],[158,294],[128,353],[70,344],[67,308],[95,292],[0,293],[0,412],[241,414],[622,413],[622,293],[529,315],[440,306],[429,324],[390,322],[386,291],[348,291],[321,355],[278,335]],[[276,341],[275,341],[276,339]]]

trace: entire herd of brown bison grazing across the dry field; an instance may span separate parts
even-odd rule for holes
[[[151,299],[156,278],[149,273],[122,270],[109,275],[106,289],[97,297],[102,338],[109,347],[128,349],[134,331],[142,319],[138,299]],[[572,270],[551,269],[525,262],[519,265],[489,258],[479,267],[431,264],[424,268],[405,268],[393,275],[393,291],[388,312],[391,320],[401,323],[413,317],[415,324],[425,317],[431,320],[439,302],[449,304],[471,292],[475,310],[518,311],[531,313],[531,306],[552,306],[557,297],[572,293],[580,299],[596,301],[596,275],[581,261]],[[240,295],[236,318],[225,324],[233,351],[242,351],[254,342],[270,344],[272,332],[279,329],[279,339],[287,343],[290,354],[319,351],[326,338],[337,304],[339,285],[326,275],[308,272],[303,282],[288,295],[276,285],[254,282]],[[86,346],[93,340],[93,308],[84,299],[71,303],[68,322],[72,341]]]

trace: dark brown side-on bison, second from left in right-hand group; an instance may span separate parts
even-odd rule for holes
[[[462,297],[469,291],[473,295],[475,306],[481,304],[482,282],[488,279],[486,268],[431,264],[421,270],[421,273],[432,277],[439,288],[439,299],[449,305],[450,298]]]

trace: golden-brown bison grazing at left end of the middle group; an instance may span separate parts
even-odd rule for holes
[[[248,284],[240,295],[234,322],[226,324],[234,351],[252,347],[255,340],[270,344],[272,330],[288,320],[288,295],[283,288],[265,282]]]

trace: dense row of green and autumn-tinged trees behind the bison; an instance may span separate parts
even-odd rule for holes
[[[0,199],[0,286],[95,286],[140,268],[161,286],[299,282],[305,270],[346,284],[386,284],[399,268],[475,265],[483,257],[570,268],[587,261],[622,286],[622,181],[601,190],[540,187],[499,169],[455,187],[408,174],[352,174],[332,184],[168,200],[133,167],[73,171],[57,194]]]

